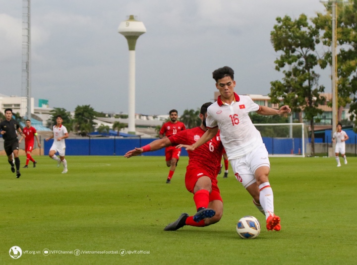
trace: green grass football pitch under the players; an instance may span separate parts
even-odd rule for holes
[[[270,158],[270,184],[280,232],[233,177],[218,176],[224,214],[217,224],[163,231],[182,212],[193,214],[184,187],[187,157],[166,184],[164,157],[67,156],[68,173],[47,156],[15,178],[0,157],[0,264],[356,264],[357,158],[336,167],[334,158]],[[21,167],[25,157],[21,157]],[[32,163],[30,163],[32,166]],[[253,215],[262,225],[240,239],[236,223]],[[24,252],[14,260],[12,246]],[[114,251],[117,254],[50,254]],[[148,251],[126,254],[120,250]],[[29,254],[25,251],[39,252]]]

